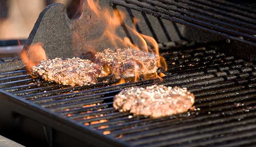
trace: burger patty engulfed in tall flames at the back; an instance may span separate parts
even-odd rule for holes
[[[113,74],[116,78],[155,73],[160,59],[154,53],[128,49],[104,49],[95,54],[96,62],[102,66],[102,75]]]

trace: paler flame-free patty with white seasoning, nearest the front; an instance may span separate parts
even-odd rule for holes
[[[114,97],[114,108],[120,112],[130,111],[134,116],[151,118],[170,116],[192,109],[194,94],[186,88],[152,85],[146,88],[127,88]]]

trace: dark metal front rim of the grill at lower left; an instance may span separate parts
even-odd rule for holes
[[[103,135],[100,131],[92,130],[90,127],[81,123],[66,119],[65,117],[60,116],[46,108],[40,107],[32,102],[28,102],[2,89],[0,89],[0,97],[1,104],[8,104],[8,106],[10,106],[10,110],[12,110],[14,113],[24,115],[58,131],[65,130],[64,133],[76,137],[81,141],[86,138],[88,139],[88,143],[95,146],[104,145],[106,147],[130,147],[124,142],[116,141],[112,137]],[[98,138],[104,139],[99,140]]]

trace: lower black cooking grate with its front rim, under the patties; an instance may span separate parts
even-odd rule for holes
[[[42,123],[45,140],[52,146],[60,145],[54,142],[56,131],[92,146],[253,146],[254,63],[204,46],[171,51],[162,46],[161,53],[168,64],[163,81],[140,79],[116,85],[118,80],[107,77],[92,86],[70,87],[32,78],[24,70],[0,73],[0,104],[15,104],[12,111]],[[196,109],[152,119],[112,107],[120,89],[154,83],[187,87],[196,96]]]

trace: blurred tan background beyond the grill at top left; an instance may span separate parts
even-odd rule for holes
[[[0,40],[26,39],[40,12],[49,4],[72,0],[0,0]]]

